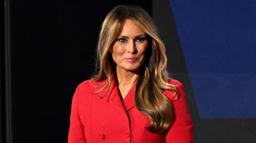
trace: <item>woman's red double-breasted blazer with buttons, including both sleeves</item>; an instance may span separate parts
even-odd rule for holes
[[[92,87],[90,80],[78,85],[73,96],[68,143],[192,143],[193,124],[185,99],[183,85],[177,80],[169,80],[176,86],[179,98],[173,101],[173,91],[165,91],[175,112],[170,129],[163,133],[151,133],[146,127],[151,120],[135,106],[135,85],[122,101],[115,77],[108,94],[101,99],[107,88]],[[99,83],[103,83],[105,80]]]

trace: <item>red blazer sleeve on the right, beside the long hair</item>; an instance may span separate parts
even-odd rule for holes
[[[184,87],[178,83],[179,93],[177,100],[172,101],[174,108],[174,122],[166,134],[166,143],[193,143],[193,123],[189,115]]]

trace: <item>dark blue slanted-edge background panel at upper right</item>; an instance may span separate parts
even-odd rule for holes
[[[256,1],[170,0],[201,118],[256,118]]]

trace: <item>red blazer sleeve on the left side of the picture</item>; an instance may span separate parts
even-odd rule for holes
[[[82,125],[78,114],[77,100],[79,88],[80,85],[78,85],[72,100],[68,143],[86,143],[84,126]]]

